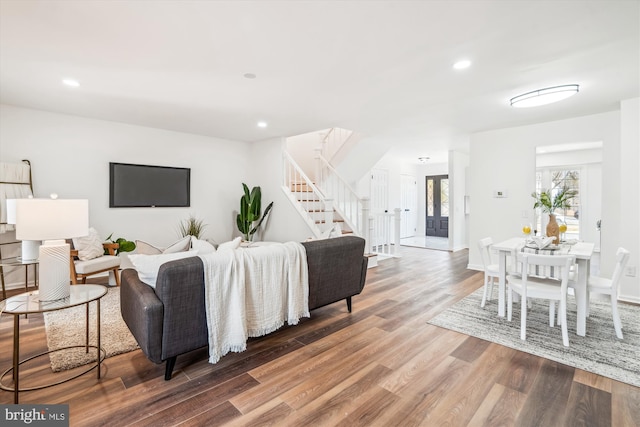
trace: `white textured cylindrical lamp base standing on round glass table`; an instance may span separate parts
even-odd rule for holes
[[[64,240],[47,240],[40,246],[40,301],[67,298],[71,248]]]

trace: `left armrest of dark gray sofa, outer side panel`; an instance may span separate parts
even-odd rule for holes
[[[155,363],[162,362],[162,302],[130,268],[121,275],[120,312],[144,354]]]

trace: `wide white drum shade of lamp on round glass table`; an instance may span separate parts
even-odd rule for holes
[[[56,240],[89,234],[86,199],[16,199],[16,239]]]

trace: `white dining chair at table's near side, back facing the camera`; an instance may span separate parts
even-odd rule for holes
[[[529,298],[549,300],[549,326],[554,325],[555,301],[559,302],[558,318],[562,327],[562,343],[569,347],[569,333],[567,330],[567,288],[569,284],[569,270],[575,262],[571,255],[536,255],[520,253],[522,262],[521,274],[509,274],[507,284],[509,294],[507,300],[507,320],[511,321],[513,313],[513,293],[520,295],[520,339],[527,337],[527,302]],[[535,268],[530,266],[555,267],[560,269],[560,280],[548,277],[538,277],[530,272]]]

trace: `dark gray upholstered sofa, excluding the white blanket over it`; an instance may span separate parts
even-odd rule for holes
[[[359,294],[367,272],[364,239],[355,236],[302,243],[309,269],[309,310]],[[155,363],[166,361],[165,380],[180,354],[208,345],[204,303],[204,270],[195,256],[160,267],[155,289],[133,269],[121,276],[122,318],[144,354]]]

